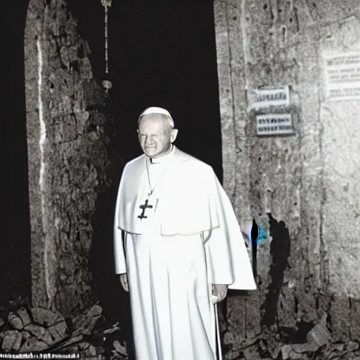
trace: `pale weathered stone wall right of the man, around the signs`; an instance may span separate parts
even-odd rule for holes
[[[229,298],[226,341],[324,313],[335,338],[359,338],[360,101],[326,98],[323,65],[359,51],[359,3],[215,0],[214,16],[224,187],[240,223],[269,234],[259,289]],[[295,133],[259,137],[247,90],[283,85],[290,105],[262,111],[291,113]]]

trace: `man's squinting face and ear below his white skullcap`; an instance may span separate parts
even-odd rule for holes
[[[171,129],[169,120],[162,114],[143,115],[138,134],[143,153],[149,158],[159,158],[169,153],[171,143],[176,138],[176,130]]]

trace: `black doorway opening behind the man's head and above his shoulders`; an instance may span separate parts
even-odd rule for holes
[[[148,106],[161,106],[179,127],[179,148],[212,165],[222,181],[212,3],[113,0],[108,16],[113,146],[125,162],[140,155],[137,117]],[[89,41],[95,75],[104,78],[101,1],[79,0],[70,2],[69,8]]]

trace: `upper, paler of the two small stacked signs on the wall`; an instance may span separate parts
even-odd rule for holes
[[[289,86],[266,87],[248,90],[250,108],[269,108],[269,106],[288,106],[290,104]]]

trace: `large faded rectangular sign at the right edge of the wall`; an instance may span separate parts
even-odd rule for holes
[[[326,97],[360,98],[360,51],[325,53]]]

